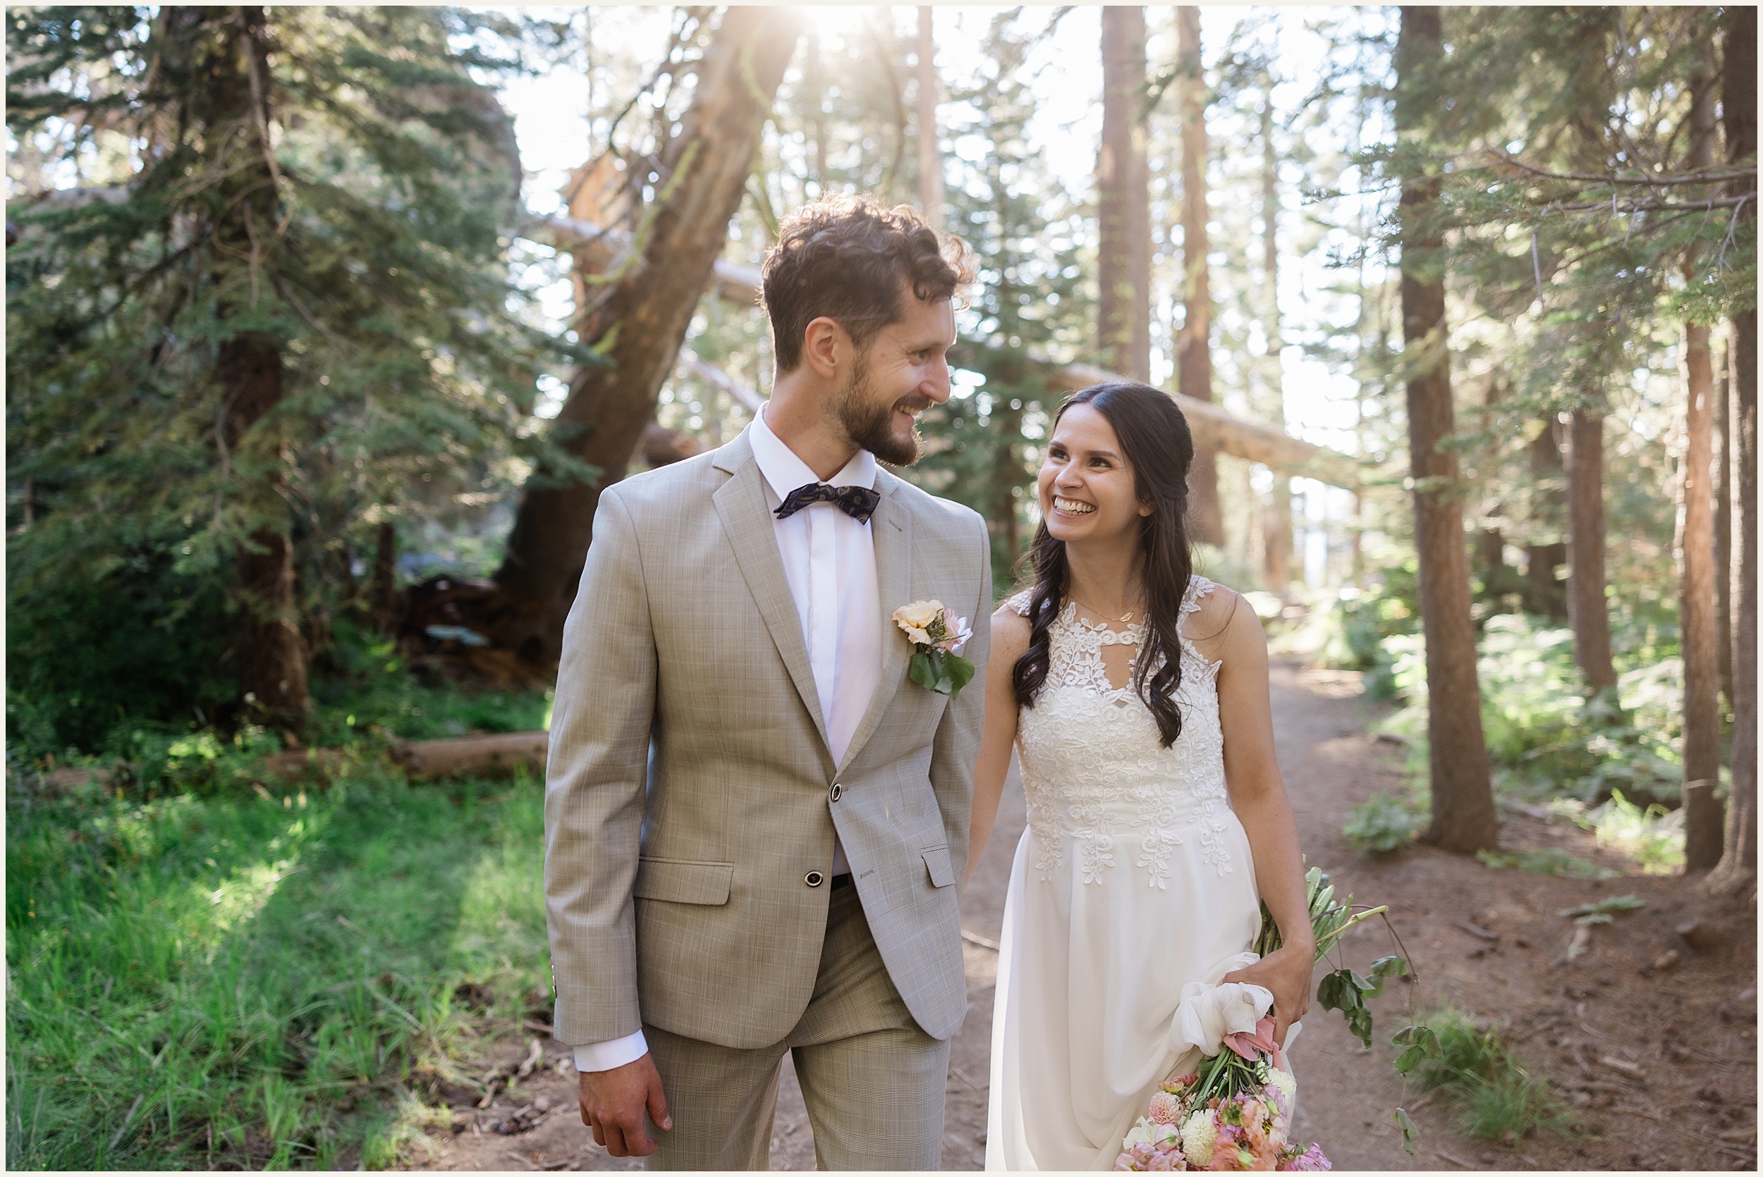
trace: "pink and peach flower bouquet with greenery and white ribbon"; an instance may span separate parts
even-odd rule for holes
[[[1386,911],[1356,911],[1350,897],[1336,904],[1335,888],[1317,869],[1305,876],[1305,892],[1317,960],[1340,943],[1347,929]],[[1232,957],[1218,974],[1253,964],[1278,946],[1278,927],[1262,907],[1255,951]],[[1322,978],[1317,1003],[1324,1010],[1340,1010],[1352,1033],[1370,1045],[1372,1015],[1365,999],[1382,992],[1386,976],[1407,971],[1403,957],[1384,957],[1372,966],[1370,978],[1352,969],[1336,969]],[[1151,1094],[1149,1108],[1121,1140],[1116,1170],[1333,1168],[1315,1144],[1299,1147],[1291,1142],[1298,1082],[1273,1041],[1275,1020],[1268,1017],[1271,1008],[1273,994],[1261,985],[1192,981],[1181,990],[1171,1036],[1186,1047],[1197,1047],[1202,1057],[1192,1075],[1165,1080]]]

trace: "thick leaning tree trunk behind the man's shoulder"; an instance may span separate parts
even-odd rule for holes
[[[599,470],[587,483],[534,479],[520,502],[502,567],[497,645],[552,664],[594,529],[599,492],[624,477],[673,370],[698,296],[728,240],[770,100],[795,51],[795,16],[730,7],[698,67],[681,130],[663,159],[661,206],[642,263],[582,326],[610,361],[580,368],[552,426],[559,442]]]

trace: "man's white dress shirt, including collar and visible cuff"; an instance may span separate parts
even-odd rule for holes
[[[820,477],[795,456],[758,412],[748,426],[748,442],[765,479],[765,506],[772,511],[772,530],[783,574],[790,581],[795,611],[802,617],[807,663],[815,671],[815,694],[827,724],[832,763],[844,759],[857,724],[869,710],[882,680],[882,611],[876,585],[876,550],[869,523],[859,523],[836,504],[816,502],[786,520],[777,507],[797,486]],[[867,449],[844,463],[829,479],[830,486],[866,486],[874,490],[876,460]],[[832,844],[832,874],[850,874],[837,835]],[[647,1054],[649,1043],[636,1031],[612,1041],[575,1048],[575,1070],[610,1071]]]

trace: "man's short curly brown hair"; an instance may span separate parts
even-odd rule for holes
[[[862,351],[904,317],[908,289],[941,301],[970,282],[966,243],[936,233],[906,204],[883,208],[873,196],[804,204],[777,226],[760,278],[777,370],[793,372],[802,361],[802,333],[815,319],[837,321]]]

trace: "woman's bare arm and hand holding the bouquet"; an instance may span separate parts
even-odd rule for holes
[[[1222,599],[1218,599],[1222,597]],[[1252,981],[1273,992],[1275,1038],[1283,1045],[1285,1027],[1310,1008],[1310,974],[1315,969],[1315,934],[1305,902],[1305,860],[1298,848],[1298,821],[1285,796],[1280,761],[1273,751],[1273,708],[1268,701],[1268,638],[1261,620],[1239,596],[1215,594],[1218,613],[1229,603],[1229,622],[1202,648],[1222,659],[1218,668],[1218,717],[1224,728],[1224,774],[1231,809],[1248,833],[1255,856],[1255,885],[1280,925],[1283,946],[1264,960],[1225,976]],[[1206,610],[1211,611],[1211,610]],[[1194,631],[1208,631],[1195,617]]]

